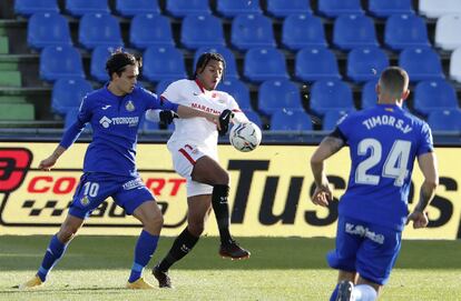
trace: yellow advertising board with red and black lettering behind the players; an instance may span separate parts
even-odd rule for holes
[[[55,169],[38,170],[57,143],[0,142],[0,234],[51,234],[67,214],[81,175],[87,143],[73,144]],[[219,146],[220,163],[230,174],[229,209],[236,237],[334,237],[337,201],[328,208],[310,201],[313,178],[308,159],[315,147],[261,146],[238,152]],[[185,180],[173,170],[165,144],[139,143],[137,163],[146,185],[157,195],[165,218],[163,235],[176,235],[186,225]],[[457,239],[461,217],[460,149],[437,148],[440,187],[429,205],[426,229],[404,230],[406,239]],[[350,170],[347,149],[328,159],[326,171],[335,199],[346,188]],[[422,175],[415,167],[410,208],[418,202]],[[81,233],[138,234],[139,222],[108,199],[86,221]],[[209,219],[207,234],[217,235]]]

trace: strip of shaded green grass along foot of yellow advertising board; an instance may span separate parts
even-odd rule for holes
[[[2,270],[33,270],[39,267],[50,237],[0,237]],[[129,269],[136,237],[77,237],[58,264],[61,270]],[[161,238],[149,267],[169,250],[174,238]],[[222,259],[218,238],[203,238],[188,257],[175,264],[183,270],[271,270],[328,269],[325,254],[334,248],[325,238],[241,238],[242,247],[252,252],[249,260]],[[443,250],[443,257],[441,255]],[[461,269],[460,241],[404,241],[396,268]],[[447,260],[443,260],[447,259]]]

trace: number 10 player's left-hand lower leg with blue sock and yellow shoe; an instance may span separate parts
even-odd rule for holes
[[[62,258],[66,249],[77,233],[78,229],[84,224],[84,219],[68,214],[58,233],[56,233],[48,244],[41,265],[37,274],[27,282],[19,285],[19,289],[31,289],[41,285],[46,280],[48,273]]]

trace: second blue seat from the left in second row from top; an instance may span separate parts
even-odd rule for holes
[[[120,26],[109,13],[87,13],[81,17],[78,40],[88,50],[97,46],[124,44]]]

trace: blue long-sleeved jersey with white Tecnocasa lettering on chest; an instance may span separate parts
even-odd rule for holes
[[[84,98],[77,121],[65,132],[60,146],[69,148],[89,122],[92,141],[85,154],[84,171],[137,175],[137,133],[145,112],[149,109],[177,111],[177,108],[140,87],[117,97],[106,86]]]

